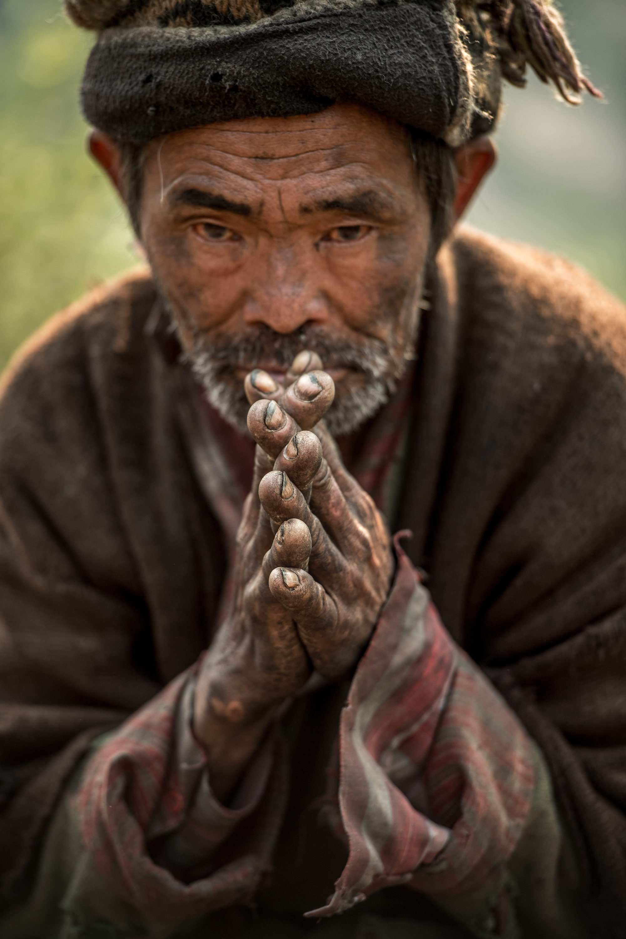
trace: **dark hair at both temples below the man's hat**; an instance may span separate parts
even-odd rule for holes
[[[454,164],[452,150],[442,140],[409,128],[411,153],[422,180],[431,212],[430,256],[433,258],[450,230],[454,200]],[[117,141],[121,157],[122,186],[129,208],[130,222],[141,238],[139,210],[144,182],[145,144]]]

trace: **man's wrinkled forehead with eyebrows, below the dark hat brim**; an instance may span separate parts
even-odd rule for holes
[[[168,134],[145,146],[144,172],[146,202],[161,213],[212,208],[305,223],[336,211],[384,223],[421,208],[408,131],[355,105]]]

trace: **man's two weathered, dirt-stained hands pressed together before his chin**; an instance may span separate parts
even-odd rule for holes
[[[266,373],[246,378],[252,491],[233,605],[206,654],[194,718],[226,790],[313,670],[335,679],[355,664],[389,593],[389,532],[322,422],[334,384],[321,364],[300,353],[277,391]]]

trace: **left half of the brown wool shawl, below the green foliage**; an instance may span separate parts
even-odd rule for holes
[[[0,889],[99,732],[206,647],[223,575],[142,328],[146,274],[102,288],[23,349],[0,399]],[[42,769],[42,764],[45,768]]]

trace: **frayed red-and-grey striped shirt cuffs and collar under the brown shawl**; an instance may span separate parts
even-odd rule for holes
[[[371,459],[366,451],[359,457],[361,481],[369,479],[368,487],[379,491],[409,391],[407,382],[390,403],[393,420],[378,423]],[[208,433],[203,439],[206,452],[220,448],[223,465],[237,459],[226,440]],[[224,499],[232,502],[232,492],[231,486]],[[213,504],[215,493],[206,497]],[[439,896],[477,889],[503,869],[530,807],[533,760],[526,732],[452,642],[397,543],[396,552],[393,589],[341,716],[339,771],[328,773],[325,809],[347,839],[348,862],[327,906],[310,916],[344,911],[399,883]],[[146,917],[161,922],[188,921],[252,898],[270,868],[286,798],[279,734],[265,789],[239,816],[212,798],[206,777],[204,801],[194,802],[176,743],[190,681],[191,673],[177,678],[96,753],[77,802],[84,844],[102,876]],[[202,754],[192,768],[202,775]],[[150,854],[146,843],[165,834],[176,841],[174,870],[186,852],[197,862],[204,839],[206,876],[186,883],[187,877],[177,879],[161,866],[165,860],[156,863],[160,855]],[[227,835],[236,856],[221,858]],[[510,898],[501,895],[497,902],[503,908],[495,921],[505,922]]]

